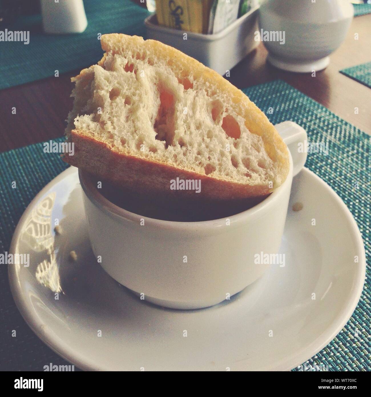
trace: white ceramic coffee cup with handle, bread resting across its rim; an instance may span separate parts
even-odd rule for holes
[[[229,218],[146,218],[111,203],[79,170],[90,242],[104,270],[145,301],[178,309],[212,306],[260,278],[270,265],[256,264],[257,255],[278,253],[292,177],[306,160],[306,152],[298,151],[307,140],[304,129],[291,121],[275,127],[293,154],[286,181]]]

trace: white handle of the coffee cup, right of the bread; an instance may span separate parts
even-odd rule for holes
[[[294,121],[284,121],[283,123],[276,124],[275,129],[277,129],[284,143],[286,143],[288,150],[290,150],[293,163],[292,176],[295,176],[304,167],[307,160],[307,151],[299,151],[298,143],[302,143],[305,148],[308,135],[305,129],[294,123]]]

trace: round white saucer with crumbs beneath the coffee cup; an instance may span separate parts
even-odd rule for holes
[[[304,207],[294,212],[296,202]],[[230,301],[210,308],[164,309],[140,301],[102,270],[90,249],[73,167],[31,202],[10,252],[30,253],[29,267],[9,265],[21,314],[48,346],[85,370],[290,370],[342,329],[365,279],[356,222],[307,169],[292,185],[285,266],[272,265]],[[59,300],[55,291],[63,291]]]

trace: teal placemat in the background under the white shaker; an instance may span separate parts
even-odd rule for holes
[[[98,33],[145,35],[144,19],[150,14],[130,0],[85,0],[84,6],[88,26],[83,33],[46,35],[41,15],[6,26],[8,31],[29,31],[30,41],[1,42],[0,89],[54,76],[56,70],[62,74],[96,64],[102,58]]]

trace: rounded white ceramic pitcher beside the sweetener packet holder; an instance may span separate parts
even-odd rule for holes
[[[348,0],[263,1],[260,39],[269,52],[268,61],[294,72],[324,69],[329,54],[344,41],[353,15]]]

